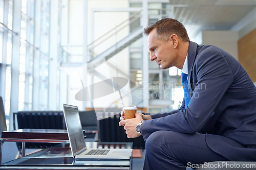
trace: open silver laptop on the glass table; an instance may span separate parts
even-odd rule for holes
[[[78,107],[63,104],[63,109],[73,158],[131,159],[133,149],[87,149]]]

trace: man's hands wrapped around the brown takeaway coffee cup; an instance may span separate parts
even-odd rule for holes
[[[119,122],[119,126],[123,126],[123,129],[127,134],[127,138],[135,138],[140,136],[140,134],[136,132],[136,126],[140,123],[141,120],[143,120],[139,112],[135,113],[135,118],[125,119],[123,117],[123,111],[122,111],[120,119],[121,120]]]

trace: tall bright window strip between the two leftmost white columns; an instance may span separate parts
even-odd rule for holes
[[[18,110],[32,109],[32,83],[34,48],[34,0],[22,0],[19,48]],[[33,67],[32,67],[33,68]]]

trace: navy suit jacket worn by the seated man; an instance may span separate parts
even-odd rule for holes
[[[144,139],[161,130],[198,132],[206,134],[211,150],[227,159],[255,161],[256,87],[245,69],[220,48],[191,41],[187,61],[188,106],[184,109],[183,100],[179,110],[152,115],[141,127]]]

